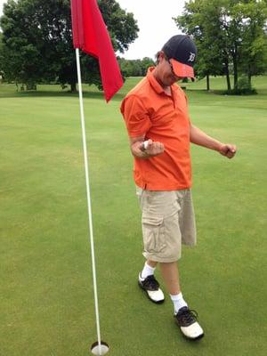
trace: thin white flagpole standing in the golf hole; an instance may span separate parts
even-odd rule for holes
[[[96,271],[95,271],[95,257],[94,257],[94,244],[93,244],[93,219],[92,219],[91,194],[90,194],[90,182],[89,182],[89,164],[88,164],[86,136],[85,136],[85,113],[84,113],[84,102],[83,102],[83,91],[82,91],[80,56],[79,56],[78,48],[76,48],[76,61],[77,61],[77,78],[78,78],[80,114],[81,114],[83,147],[84,147],[84,158],[85,158],[85,182],[86,182],[88,223],[89,223],[89,231],[90,231],[90,245],[91,245],[91,255],[92,255],[92,269],[93,269],[94,309],[95,309],[95,318],[96,318],[97,340],[98,340],[98,345],[99,345],[99,352],[101,355],[101,330],[100,330],[100,318],[99,318]]]

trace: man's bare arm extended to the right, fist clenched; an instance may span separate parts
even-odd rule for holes
[[[237,152],[237,147],[231,143],[222,143],[208,136],[197,126],[190,124],[190,142],[206,149],[217,150],[221,155],[227,158],[233,158]]]

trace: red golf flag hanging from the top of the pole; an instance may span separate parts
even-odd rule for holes
[[[96,0],[71,0],[73,45],[99,60],[106,101],[117,93],[123,79],[109,32]]]

